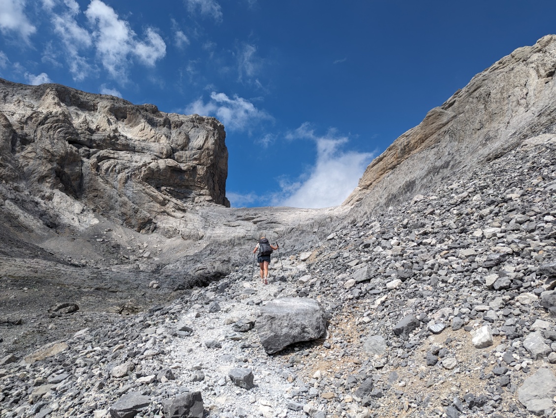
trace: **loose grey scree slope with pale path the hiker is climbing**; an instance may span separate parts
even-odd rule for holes
[[[553,135],[530,138],[310,251],[282,250],[267,286],[246,255],[171,303],[7,354],[0,415],[555,416],[554,152]],[[261,312],[290,297],[318,301],[326,332],[269,355]]]

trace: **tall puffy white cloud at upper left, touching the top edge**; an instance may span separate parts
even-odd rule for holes
[[[126,82],[132,57],[152,67],[166,56],[166,43],[153,28],[147,28],[145,40],[139,41],[127,21],[101,0],[92,0],[85,11],[95,27],[93,42],[102,66],[112,78]]]

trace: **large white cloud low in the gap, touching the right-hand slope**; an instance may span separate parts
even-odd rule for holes
[[[281,192],[274,196],[274,205],[305,208],[340,205],[358,185],[359,177],[373,158],[373,153],[342,151],[349,142],[334,131],[317,136],[305,123],[287,138],[304,138],[315,142],[316,162],[299,180],[280,181]]]

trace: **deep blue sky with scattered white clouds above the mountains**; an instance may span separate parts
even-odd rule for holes
[[[341,203],[471,77],[556,33],[556,2],[0,0],[0,77],[226,127],[232,206]]]

